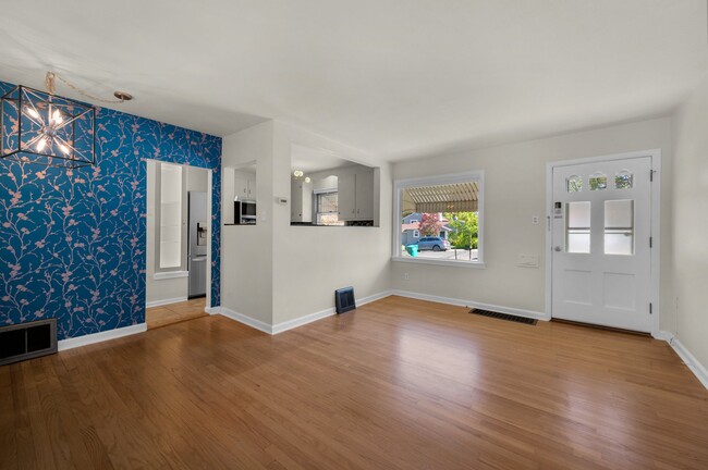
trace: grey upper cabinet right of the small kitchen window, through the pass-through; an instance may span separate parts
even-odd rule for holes
[[[374,169],[361,166],[339,177],[339,219],[374,219]]]

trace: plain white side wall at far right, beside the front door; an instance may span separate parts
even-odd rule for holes
[[[708,78],[674,115],[672,332],[708,367]]]

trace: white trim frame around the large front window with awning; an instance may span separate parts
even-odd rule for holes
[[[479,187],[477,200],[477,261],[460,261],[460,260],[438,260],[438,259],[422,259],[422,258],[404,258],[401,256],[401,230],[394,230],[393,243],[391,245],[391,260],[396,262],[413,262],[419,264],[439,264],[452,267],[467,267],[467,268],[486,268],[484,258],[484,226],[485,226],[485,171],[478,170],[474,172],[453,173],[436,176],[425,176],[407,180],[393,181],[393,226],[401,226],[401,191],[405,188],[417,186],[435,186],[454,183],[467,183],[474,181]]]

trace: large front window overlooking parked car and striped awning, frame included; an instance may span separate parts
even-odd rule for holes
[[[394,182],[393,260],[484,267],[484,172]]]

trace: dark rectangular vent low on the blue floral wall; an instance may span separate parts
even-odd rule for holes
[[[57,319],[0,327],[0,366],[57,352]]]

